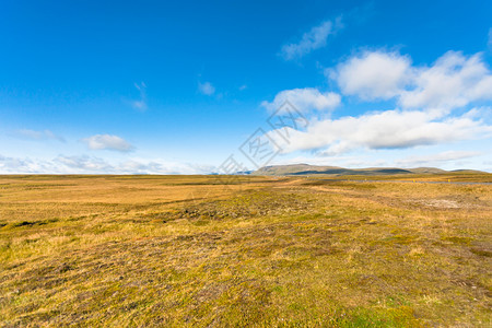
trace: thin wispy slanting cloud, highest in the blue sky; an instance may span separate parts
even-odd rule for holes
[[[298,43],[284,45],[280,50],[280,55],[285,60],[292,60],[323,48],[326,46],[328,36],[333,34],[339,25],[339,19],[335,24],[331,21],[323,22],[319,26],[315,26],[309,32],[304,33]]]

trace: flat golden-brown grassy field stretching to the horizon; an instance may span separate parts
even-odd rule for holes
[[[449,178],[491,181],[0,176],[0,325],[490,326],[492,185]]]

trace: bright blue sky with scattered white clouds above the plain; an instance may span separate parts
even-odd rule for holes
[[[8,0],[0,45],[0,173],[492,172],[491,1]]]

